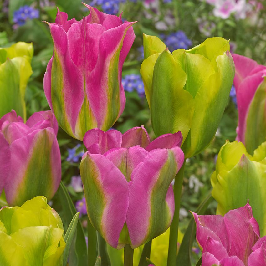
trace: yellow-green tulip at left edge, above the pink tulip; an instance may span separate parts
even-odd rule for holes
[[[15,110],[26,119],[25,90],[32,74],[32,43],[18,42],[0,48],[0,117]]]

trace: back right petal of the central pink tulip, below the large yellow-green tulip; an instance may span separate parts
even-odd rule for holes
[[[178,131],[174,134],[164,134],[156,138],[154,141],[152,141],[147,147],[147,151],[151,151],[154,149],[171,149],[173,147],[180,147],[182,144],[182,134],[181,131]]]

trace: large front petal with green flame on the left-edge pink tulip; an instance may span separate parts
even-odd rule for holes
[[[61,180],[61,156],[54,130],[35,130],[13,141],[10,151],[11,168],[4,187],[8,204],[21,206],[39,195],[50,200]]]

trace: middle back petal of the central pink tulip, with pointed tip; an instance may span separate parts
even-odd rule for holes
[[[150,142],[150,137],[144,126],[136,126],[123,134],[121,147],[128,148],[139,145],[142,148],[146,148]]]

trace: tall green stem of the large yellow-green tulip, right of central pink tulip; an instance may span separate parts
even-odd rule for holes
[[[181,169],[179,170],[179,172],[177,173],[177,175],[175,177],[175,184],[174,184],[175,212],[174,212],[173,221],[172,221],[171,227],[170,227],[167,266],[175,266],[176,265],[179,210],[180,210],[181,192],[182,192],[182,184],[183,184],[185,164],[186,164],[186,160],[184,161]]]

